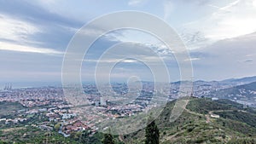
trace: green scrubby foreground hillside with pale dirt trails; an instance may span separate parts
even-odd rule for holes
[[[191,98],[183,114],[169,122],[174,101],[169,102],[156,124],[160,128],[160,143],[235,143],[256,138],[256,115],[245,111],[233,101]],[[212,116],[220,118],[212,118]],[[143,143],[144,130],[125,135],[125,143]]]

